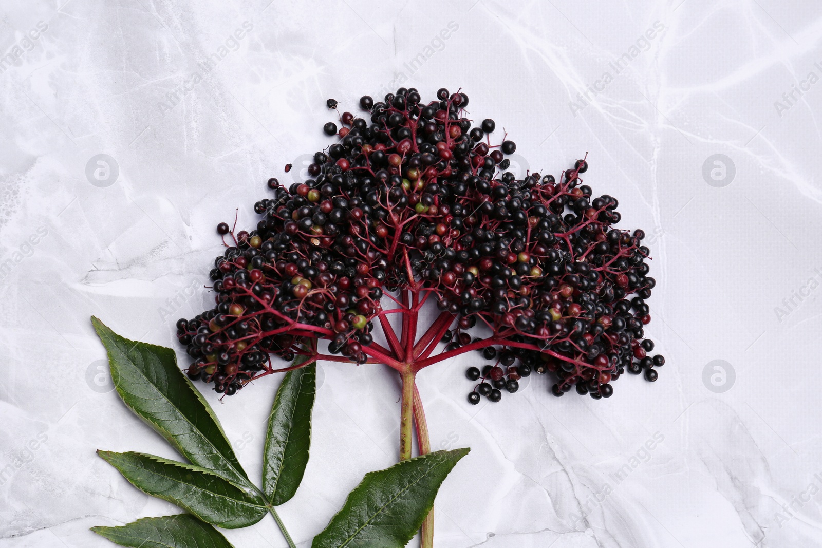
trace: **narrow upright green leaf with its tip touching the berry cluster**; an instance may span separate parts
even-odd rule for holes
[[[307,359],[298,356],[294,365]],[[306,471],[315,393],[316,362],[286,373],[274,398],[262,474],[266,496],[275,506],[293,497]]]

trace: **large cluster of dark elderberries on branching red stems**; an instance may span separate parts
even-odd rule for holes
[[[585,159],[515,177],[515,143],[468,104],[445,89],[427,102],[413,88],[364,96],[362,115],[326,124],[334,142],[307,180],[270,179],[254,230],[221,223],[231,245],[211,270],[215,307],[177,325],[188,375],[231,395],[316,359],[386,364],[403,382],[403,458],[413,417],[427,444],[415,375],[464,352],[483,356],[466,371],[470,403],[498,402],[532,373],[556,396],[596,399],[625,371],[656,380],[643,231],[616,228],[617,199],[583,183]],[[440,313],[418,325],[429,303]]]

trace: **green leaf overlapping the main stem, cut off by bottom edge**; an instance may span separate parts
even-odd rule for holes
[[[436,451],[368,472],[312,548],[400,548],[418,531],[451,468],[471,449]]]

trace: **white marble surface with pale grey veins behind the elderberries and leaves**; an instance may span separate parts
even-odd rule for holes
[[[629,375],[600,401],[532,377],[470,407],[474,356],[424,371],[433,444],[472,448],[437,499],[437,546],[822,545],[819,2],[267,2],[0,7],[17,58],[0,73],[0,546],[111,546],[88,527],[173,513],[95,456],[173,451],[95,378],[89,316],[177,348],[215,224],[239,208],[252,226],[266,179],[326,145],[327,98],[401,84],[461,86],[543,173],[589,152],[586,183],[650,235],[647,333],[667,356],[657,383]],[[96,154],[118,166],[109,186],[86,177]],[[704,178],[714,154],[732,179]],[[734,372],[723,392],[703,380],[714,360]],[[390,372],[322,371],[312,460],[281,509],[301,546],[398,453]],[[276,385],[207,394],[252,477]],[[226,534],[285,546],[271,520]]]

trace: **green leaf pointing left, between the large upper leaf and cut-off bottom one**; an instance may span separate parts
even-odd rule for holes
[[[257,523],[268,512],[258,495],[247,493],[205,468],[141,453],[97,454],[137,489],[177,504],[206,523],[237,529]]]

